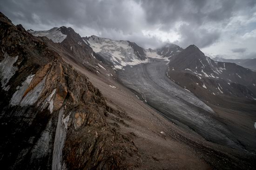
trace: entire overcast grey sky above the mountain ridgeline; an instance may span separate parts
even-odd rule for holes
[[[0,11],[25,29],[64,25],[144,48],[195,44],[209,56],[256,58],[256,0],[0,0]]]

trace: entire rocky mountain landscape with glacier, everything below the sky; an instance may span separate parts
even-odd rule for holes
[[[195,45],[26,31],[2,13],[0,47],[3,169],[256,165],[253,68]]]

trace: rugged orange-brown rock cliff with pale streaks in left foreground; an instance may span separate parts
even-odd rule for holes
[[[101,92],[0,13],[0,165],[3,169],[129,169],[134,143],[110,128]],[[133,164],[128,164],[129,161]]]

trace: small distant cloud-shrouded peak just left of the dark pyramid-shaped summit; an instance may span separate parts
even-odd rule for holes
[[[172,57],[179,52],[181,52],[183,49],[175,44],[166,44],[162,48],[156,49],[156,52],[158,55],[162,57]]]

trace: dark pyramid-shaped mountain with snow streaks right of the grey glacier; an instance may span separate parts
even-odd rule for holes
[[[235,63],[215,62],[195,45],[171,57],[168,77],[216,112],[242,147],[254,151],[256,72]]]

